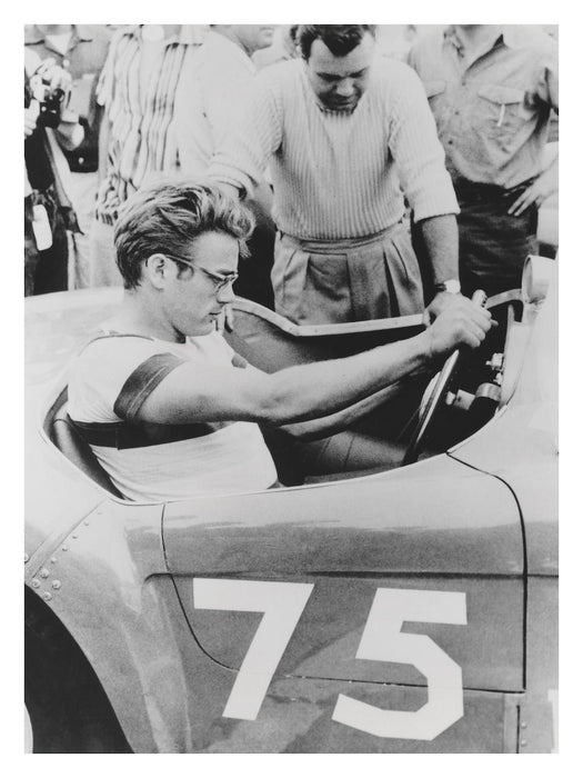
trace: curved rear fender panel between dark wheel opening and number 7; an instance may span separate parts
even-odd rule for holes
[[[163,575],[161,510],[105,502],[44,545],[26,577],[88,658],[138,752],[192,749],[171,626],[183,615]]]

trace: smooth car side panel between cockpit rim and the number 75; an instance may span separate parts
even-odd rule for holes
[[[445,455],[378,476],[167,506],[169,570],[521,576],[512,492]]]

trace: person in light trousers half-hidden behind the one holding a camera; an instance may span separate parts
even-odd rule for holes
[[[101,111],[96,86],[108,53],[111,31],[104,24],[29,24],[24,46],[41,59],[51,58],[71,74],[70,117],[77,117],[84,138],[71,149],[61,143],[69,162],[68,194],[79,231],[69,232],[69,288],[89,286],[89,231],[98,183],[98,137]]]

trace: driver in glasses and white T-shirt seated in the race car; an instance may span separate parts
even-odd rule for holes
[[[389,385],[476,348],[491,327],[460,296],[408,340],[264,373],[218,329],[251,230],[245,208],[207,183],[158,183],[120,215],[123,301],[71,366],[69,415],[129,499],[267,489],[278,473],[260,423],[308,437],[343,429]]]

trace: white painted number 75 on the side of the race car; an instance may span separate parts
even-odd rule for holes
[[[253,721],[310,598],[313,584],[194,578],[194,608],[262,612],[223,716]],[[356,659],[412,665],[428,679],[419,710],[384,710],[339,695],[332,719],[384,738],[433,740],[463,716],[462,670],[426,635],[401,632],[403,621],[468,624],[465,594],[378,589]]]

